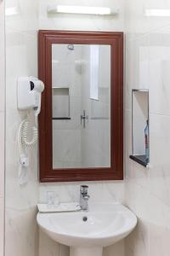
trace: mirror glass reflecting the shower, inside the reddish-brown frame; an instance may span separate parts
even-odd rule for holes
[[[53,169],[111,167],[111,45],[52,44]]]

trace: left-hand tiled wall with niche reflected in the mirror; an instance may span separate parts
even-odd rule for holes
[[[65,102],[60,100],[60,104],[58,103],[55,108],[60,110],[59,116],[62,117],[63,105],[68,104],[71,118],[53,120],[53,166],[54,168],[80,167],[82,166],[80,123],[82,73],[77,71],[77,60],[82,60],[82,47],[77,45],[74,50],[70,50],[67,49],[66,44],[55,45],[52,56],[52,85],[69,88],[70,97],[70,104],[67,97]],[[57,99],[54,94],[53,101],[55,105]]]

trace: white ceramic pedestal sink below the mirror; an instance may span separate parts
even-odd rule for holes
[[[98,256],[126,237],[137,218],[121,204],[93,204],[88,212],[39,212],[37,223],[54,241],[70,246],[71,256]]]

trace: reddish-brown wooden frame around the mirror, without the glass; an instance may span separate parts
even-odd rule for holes
[[[123,179],[123,33],[39,31],[38,73],[45,84],[39,116],[40,182]],[[111,167],[53,169],[52,44],[111,45]]]

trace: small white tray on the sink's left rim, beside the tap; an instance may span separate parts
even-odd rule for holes
[[[81,207],[77,202],[60,203],[58,206],[48,207],[47,204],[37,204],[39,212],[77,212]]]

